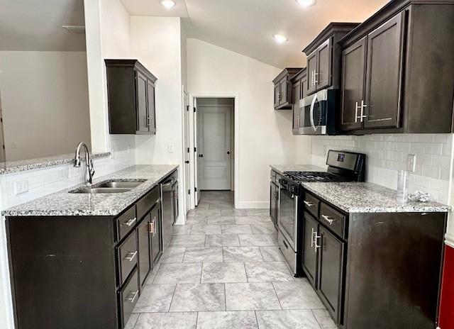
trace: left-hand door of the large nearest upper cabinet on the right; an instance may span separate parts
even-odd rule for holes
[[[361,129],[361,101],[365,91],[366,38],[358,40],[342,52],[341,129]]]

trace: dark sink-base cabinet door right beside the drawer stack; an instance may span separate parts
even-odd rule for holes
[[[150,215],[145,216],[137,227],[138,252],[139,252],[139,284],[145,284],[145,279],[151,271],[151,246],[150,246]]]

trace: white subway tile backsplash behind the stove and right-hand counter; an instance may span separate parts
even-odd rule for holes
[[[426,191],[448,203],[453,148],[452,134],[386,134],[313,136],[312,163],[325,167],[327,150],[353,150],[367,155],[367,182],[397,188],[397,170],[406,169],[409,154],[416,155],[410,174],[410,192]]]

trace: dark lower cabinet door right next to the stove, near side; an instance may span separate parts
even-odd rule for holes
[[[317,252],[315,238],[319,231],[319,224],[309,215],[304,213],[304,241],[303,241],[303,270],[312,286],[316,286]]]

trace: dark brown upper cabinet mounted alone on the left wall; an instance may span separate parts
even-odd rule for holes
[[[155,134],[156,77],[138,60],[106,60],[109,131]]]

